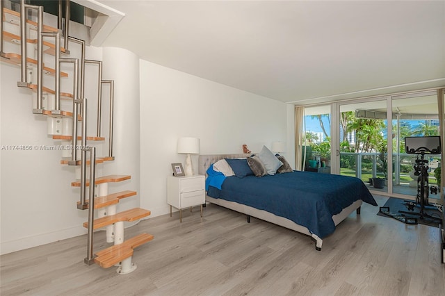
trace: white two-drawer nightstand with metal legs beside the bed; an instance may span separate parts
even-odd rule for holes
[[[168,176],[167,203],[170,204],[170,217],[172,206],[179,209],[179,221],[182,222],[182,209],[192,206],[201,206],[206,202],[205,176]]]

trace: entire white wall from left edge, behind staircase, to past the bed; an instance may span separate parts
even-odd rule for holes
[[[170,163],[184,163],[185,156],[176,153],[181,136],[200,138],[201,154],[241,153],[243,144],[259,151],[288,137],[285,104],[138,60],[123,49],[87,49],[89,59],[102,56],[104,79],[115,80],[116,161],[100,165],[97,174],[131,174],[130,181],[110,188],[138,191],[121,202],[122,209],[140,204],[152,217],[168,213],[166,177]],[[79,188],[70,186],[78,172],[60,165],[60,151],[35,149],[62,143],[47,135],[46,117],[33,115],[32,92],[17,88],[19,68],[0,63],[0,72],[1,254],[86,233],[87,212],[76,208]],[[70,92],[70,84],[64,85]],[[92,109],[94,104],[89,101]],[[94,135],[94,120],[88,128]],[[107,133],[104,126],[102,135]],[[107,144],[97,147],[99,155],[108,151]],[[197,156],[193,161],[197,171]]]

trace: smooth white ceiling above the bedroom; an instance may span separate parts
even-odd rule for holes
[[[445,85],[445,1],[98,2],[102,46],[283,102]]]

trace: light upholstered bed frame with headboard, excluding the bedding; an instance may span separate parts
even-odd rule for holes
[[[199,174],[206,175],[206,171],[212,163],[216,163],[223,158],[244,158],[246,156],[250,156],[250,154],[216,154],[216,155],[200,155],[199,158]],[[294,231],[298,231],[300,233],[304,233],[308,236],[312,236],[312,238],[316,241],[316,250],[321,251],[321,246],[323,245],[323,240],[316,236],[314,233],[311,233],[309,229],[301,226],[300,224],[296,224],[295,222],[286,219],[285,217],[277,216],[273,213],[269,213],[264,210],[259,210],[257,208],[252,208],[251,206],[246,206],[245,204],[238,204],[236,202],[229,202],[225,199],[216,199],[213,197],[209,197],[206,195],[206,201],[211,202],[212,204],[218,204],[219,206],[223,206],[225,208],[229,208],[233,211],[237,211],[239,213],[243,213],[248,215],[248,222],[250,222],[250,216],[256,217],[261,220],[265,220],[267,222],[271,222],[273,224],[280,225],[282,227],[286,227],[292,229]],[[350,213],[353,211],[357,211],[357,215],[360,213],[360,206],[362,206],[362,200],[359,199],[355,201],[353,204],[348,206],[347,208],[343,208],[341,213],[332,216],[332,220],[334,220],[334,224],[337,225],[341,221],[345,220]]]

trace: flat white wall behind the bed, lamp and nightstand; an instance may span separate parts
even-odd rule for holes
[[[166,179],[179,137],[201,140],[201,154],[242,153],[286,142],[286,105],[174,69],[140,61],[141,206],[152,217],[170,211]],[[284,154],[286,155],[286,154]],[[193,156],[197,172],[197,156]]]

